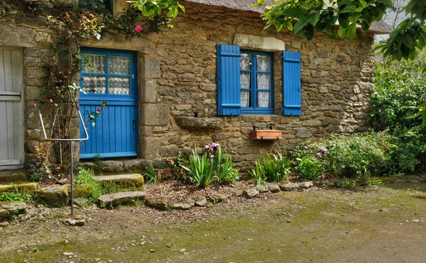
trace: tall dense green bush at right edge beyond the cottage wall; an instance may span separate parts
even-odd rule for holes
[[[369,116],[374,130],[386,130],[386,172],[414,172],[426,165],[426,127],[416,113],[426,100],[426,74],[422,72],[426,52],[417,60],[376,63],[376,91],[371,94]]]

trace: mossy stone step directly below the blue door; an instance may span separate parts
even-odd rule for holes
[[[130,190],[143,190],[143,176],[141,174],[116,174],[105,175],[102,177],[95,177],[102,188],[115,188],[115,189],[130,189]]]

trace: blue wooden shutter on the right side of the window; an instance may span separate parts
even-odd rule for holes
[[[302,115],[302,82],[300,53],[283,51],[283,111],[284,115]]]

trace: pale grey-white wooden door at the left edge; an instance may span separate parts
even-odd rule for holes
[[[0,47],[0,169],[23,164],[23,52]]]

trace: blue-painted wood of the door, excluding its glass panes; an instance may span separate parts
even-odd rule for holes
[[[82,48],[82,54],[105,56],[106,72],[99,74],[82,72],[81,77],[104,77],[107,78],[107,82],[105,82],[106,93],[104,94],[80,93],[80,111],[87,120],[88,115],[96,112],[102,101],[107,101],[107,106],[97,117],[94,126],[87,123],[89,140],[83,142],[81,145],[80,159],[93,158],[98,154],[100,157],[137,156],[138,96],[136,86],[136,55],[134,52],[123,50],[101,50],[94,48]],[[130,58],[130,74],[122,75],[128,79],[130,78],[130,94],[109,94],[109,78],[120,77],[117,74],[109,74],[109,57]],[[80,85],[84,88],[83,81],[80,82]],[[80,127],[80,133],[84,133],[82,127]]]

